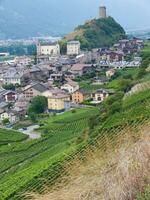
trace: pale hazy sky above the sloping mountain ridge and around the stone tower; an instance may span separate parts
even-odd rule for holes
[[[48,12],[52,12],[58,15],[56,18],[60,21],[63,19],[64,24],[70,24],[72,20],[72,26],[97,17],[99,5],[105,5],[108,15],[114,17],[124,28],[150,28],[150,0],[0,0],[0,4],[4,2],[7,5],[10,3],[12,7],[18,5],[19,9],[21,5],[24,9],[33,5],[35,9],[40,9],[43,4],[43,8],[44,5],[47,8],[44,8],[47,16]]]

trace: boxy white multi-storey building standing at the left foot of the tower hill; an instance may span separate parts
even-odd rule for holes
[[[67,43],[67,55],[79,55],[80,54],[80,42],[70,41]]]

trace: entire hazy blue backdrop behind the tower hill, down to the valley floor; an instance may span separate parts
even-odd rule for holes
[[[0,25],[14,35],[16,27],[38,35],[63,34],[97,18],[100,5],[126,30],[150,29],[150,0],[0,0]]]

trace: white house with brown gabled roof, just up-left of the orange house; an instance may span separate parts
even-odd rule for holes
[[[62,90],[65,90],[69,92],[70,94],[72,94],[79,89],[79,84],[77,82],[72,81],[70,79],[66,79],[66,80],[67,80],[67,83],[61,86]]]

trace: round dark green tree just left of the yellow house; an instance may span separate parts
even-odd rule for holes
[[[45,112],[47,108],[47,98],[43,96],[34,97],[28,108],[28,115],[33,116]]]

